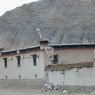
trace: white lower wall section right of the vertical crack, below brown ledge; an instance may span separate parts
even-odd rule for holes
[[[95,67],[82,68],[78,72],[76,69],[66,71],[64,85],[95,86]]]

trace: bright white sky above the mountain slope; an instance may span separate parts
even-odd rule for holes
[[[30,3],[34,1],[37,1],[37,0],[1,0],[0,1],[0,16],[3,15],[6,11],[12,10],[25,3]]]

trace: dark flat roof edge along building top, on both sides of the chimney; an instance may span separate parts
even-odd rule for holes
[[[95,48],[95,43],[74,43],[74,44],[50,44],[55,50],[57,49],[77,49],[77,48]],[[20,54],[23,53],[29,53],[32,51],[37,51],[40,50],[40,46],[32,46],[28,48],[22,48],[22,49],[17,49],[17,50],[9,50],[9,51],[1,51],[1,56],[7,56],[7,55],[16,55],[18,54],[18,51]]]

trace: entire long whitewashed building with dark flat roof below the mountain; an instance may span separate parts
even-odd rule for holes
[[[95,44],[51,45],[53,60],[45,49],[48,41],[39,46],[2,51],[0,79],[46,79],[55,85],[95,85]]]

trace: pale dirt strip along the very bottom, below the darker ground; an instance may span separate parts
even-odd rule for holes
[[[63,94],[61,91],[42,92],[34,89],[0,89],[0,95],[95,95],[95,94]]]

